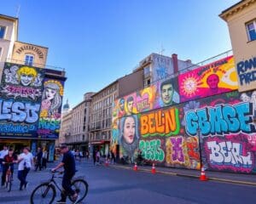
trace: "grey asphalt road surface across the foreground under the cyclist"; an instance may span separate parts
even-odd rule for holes
[[[113,167],[96,166],[90,162],[78,164],[79,175],[89,183],[89,194],[83,204],[154,204],[154,203],[255,203],[256,187],[215,181],[201,182],[165,174],[134,172]],[[27,190],[18,190],[18,181],[12,192],[0,190],[0,203],[28,204],[32,190],[49,171],[31,172]],[[255,175],[254,175],[255,176]],[[57,198],[56,198],[57,199]]]

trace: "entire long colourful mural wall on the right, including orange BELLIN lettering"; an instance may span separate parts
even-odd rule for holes
[[[116,100],[119,156],[142,152],[166,167],[256,173],[256,91],[238,93],[235,71],[227,57]]]

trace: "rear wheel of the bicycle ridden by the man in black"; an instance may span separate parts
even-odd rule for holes
[[[88,193],[88,187],[89,185],[84,179],[75,179],[72,182],[71,188],[79,195],[79,201],[83,201],[84,197]],[[71,195],[68,195],[68,198],[70,201],[73,201],[73,198]],[[76,201],[78,203],[79,201]]]

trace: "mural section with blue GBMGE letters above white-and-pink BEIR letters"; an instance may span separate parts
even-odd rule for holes
[[[202,162],[209,169],[256,173],[256,91],[200,99],[185,113],[186,133],[200,134]]]

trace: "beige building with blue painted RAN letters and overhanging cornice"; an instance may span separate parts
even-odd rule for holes
[[[229,26],[239,91],[256,88],[256,0],[243,0],[219,16]]]

